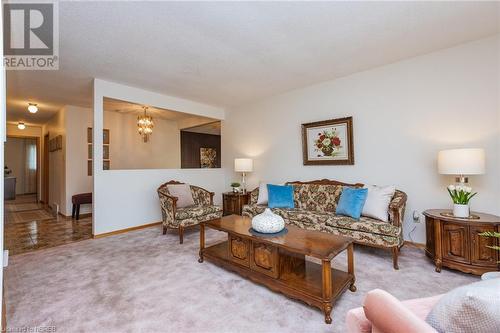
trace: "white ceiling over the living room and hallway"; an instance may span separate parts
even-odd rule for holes
[[[230,107],[499,32],[497,2],[60,2],[60,69],[9,71],[8,120],[92,78]],[[26,111],[36,102],[40,112]],[[22,119],[21,119],[22,118]]]

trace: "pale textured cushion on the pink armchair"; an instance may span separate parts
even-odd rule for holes
[[[426,321],[438,332],[500,332],[500,279],[453,289],[432,308]]]

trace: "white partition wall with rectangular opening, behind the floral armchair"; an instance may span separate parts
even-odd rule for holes
[[[151,105],[214,119],[224,110],[121,84],[94,80],[94,160],[102,160],[103,98]],[[111,143],[112,144],[112,143]],[[94,164],[94,235],[161,221],[156,189],[176,179],[216,192],[220,202],[224,189],[223,169],[146,169],[103,171]]]

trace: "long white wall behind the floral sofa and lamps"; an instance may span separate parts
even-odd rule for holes
[[[330,178],[395,184],[412,211],[451,206],[437,173],[441,149],[483,147],[487,170],[470,177],[472,209],[500,214],[498,36],[294,90],[230,110],[223,124],[223,166],[255,159],[249,182]],[[301,124],[353,116],[354,166],[304,166]],[[228,172],[226,183],[239,176]],[[425,241],[425,225],[412,238]]]

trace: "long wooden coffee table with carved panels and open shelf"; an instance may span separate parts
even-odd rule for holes
[[[278,237],[258,237],[249,232],[251,219],[238,215],[200,223],[200,258],[234,271],[271,290],[320,308],[330,324],[332,305],[354,286],[353,243],[319,231],[287,225]],[[205,247],[205,228],[227,232],[228,238]],[[347,249],[347,272],[331,267],[331,261]],[[305,260],[305,256],[321,264]]]

